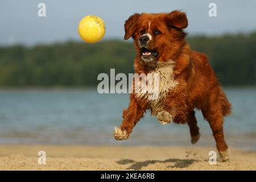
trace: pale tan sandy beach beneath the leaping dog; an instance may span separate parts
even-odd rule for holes
[[[214,147],[0,146],[0,170],[256,170],[256,151],[230,148],[229,162],[208,163]],[[46,164],[38,164],[38,151]]]

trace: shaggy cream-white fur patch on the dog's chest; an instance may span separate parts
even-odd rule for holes
[[[158,75],[157,84],[154,84],[156,83],[154,79],[153,81],[150,82],[151,84],[154,84],[154,86],[158,87],[158,89],[154,88],[154,90],[156,90],[157,92],[155,93],[157,94],[156,97],[153,97],[154,99],[150,97],[152,96],[152,93],[144,92],[144,90],[142,90],[142,88],[139,86],[138,86],[139,89],[137,90],[137,92],[135,92],[135,98],[138,98],[139,100],[147,100],[147,103],[152,111],[151,112],[152,115],[156,115],[160,111],[164,110],[164,99],[166,98],[167,93],[170,90],[174,89],[175,86],[177,85],[177,81],[174,80],[173,68],[174,68],[174,61],[170,60],[167,63],[163,63],[163,62],[157,63],[156,67],[149,72],[151,73],[151,75],[154,75],[154,74]],[[154,76],[152,77],[155,78]],[[141,84],[141,81],[139,82],[135,81],[135,85],[138,85],[138,84]]]

